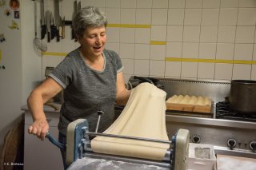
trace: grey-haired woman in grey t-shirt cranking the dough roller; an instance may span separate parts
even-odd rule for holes
[[[62,143],[66,142],[66,127],[71,121],[86,118],[90,131],[95,131],[98,111],[102,110],[98,132],[103,132],[114,121],[114,102],[126,105],[130,91],[125,87],[122,62],[117,53],[104,49],[106,25],[105,15],[96,7],[88,6],[78,12],[73,28],[81,46],[68,53],[50,77],[30,94],[28,105],[34,120],[28,129],[30,134],[44,140],[49,125],[43,104],[62,89],[64,103],[58,124]]]

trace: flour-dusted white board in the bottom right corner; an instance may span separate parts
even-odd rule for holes
[[[217,155],[217,170],[256,170],[256,159]]]

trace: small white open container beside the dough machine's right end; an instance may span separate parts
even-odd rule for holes
[[[205,151],[207,152],[202,152],[202,155],[200,155],[200,152],[199,152],[199,155],[198,155],[198,152],[196,151],[197,149],[198,150],[205,149]],[[198,158],[198,157],[201,157],[201,158]],[[217,159],[214,153],[214,146],[211,144],[190,143],[189,157],[187,162],[188,162],[188,170],[216,170]]]

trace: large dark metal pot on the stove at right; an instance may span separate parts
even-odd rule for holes
[[[240,113],[256,113],[256,81],[231,81],[230,107]]]

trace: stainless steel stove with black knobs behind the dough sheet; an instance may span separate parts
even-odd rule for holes
[[[178,128],[186,128],[190,130],[190,142],[212,144],[216,154],[256,158],[256,120],[219,115],[216,117],[216,104],[230,95],[230,81],[147,78],[165,90],[167,98],[174,94],[187,94],[210,97],[213,101],[214,107],[210,115],[167,111],[166,128],[169,136],[174,135]],[[134,88],[144,81],[148,80],[130,77],[129,88]]]

